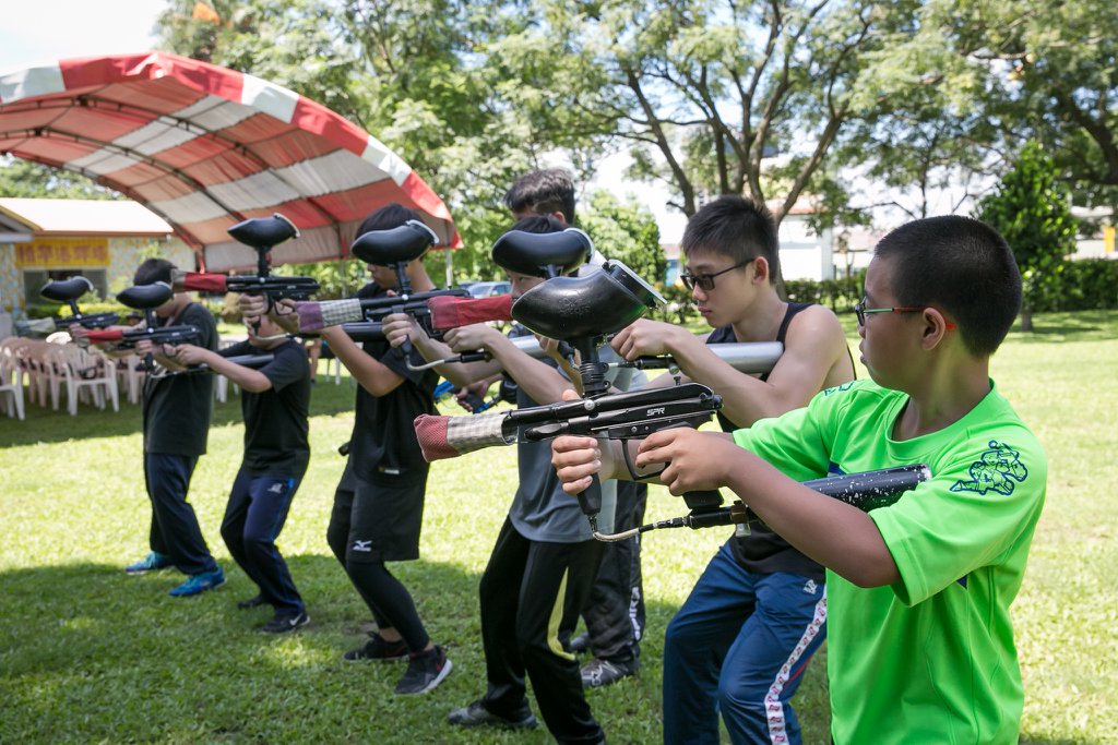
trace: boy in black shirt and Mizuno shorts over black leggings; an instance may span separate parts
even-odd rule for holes
[[[366,218],[357,236],[418,219],[413,210],[387,204]],[[405,270],[413,292],[435,289],[421,259],[408,261]],[[370,265],[369,274],[372,281],[358,297],[386,296],[399,285],[391,267]],[[238,304],[247,318],[268,311],[262,298],[250,295],[241,295]],[[285,324],[293,314],[274,317]],[[377,621],[371,640],[345,652],[344,658],[408,660],[396,693],[425,694],[443,682],[452,665],[443,648],[432,642],[411,594],[386,562],[419,557],[429,465],[423,458],[413,421],[435,412],[438,374],[408,370],[408,359],[387,341],[358,346],[341,326],[324,328],[322,338],[360,383],[349,460],[334,491],[326,542]],[[415,351],[411,361],[417,365],[425,362]]]

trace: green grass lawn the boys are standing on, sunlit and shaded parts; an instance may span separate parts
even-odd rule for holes
[[[853,318],[847,323],[856,347]],[[994,378],[1044,443],[1048,505],[1013,615],[1025,682],[1022,742],[1118,742],[1118,313],[1042,315],[1013,333]],[[855,353],[855,356],[856,353]],[[864,374],[864,371],[862,371]],[[176,600],[174,572],[125,576],[148,551],[140,413],[83,407],[76,418],[29,407],[0,419],[0,743],[544,743],[536,733],[461,732],[446,713],[485,688],[477,581],[515,488],[515,451],[490,449],[432,469],[423,558],[394,565],[455,670],[399,698],[402,668],[341,660],[368,620],[325,543],[352,424],[349,379],[320,375],[314,456],[281,547],[313,622],[256,631],[267,610],[238,611],[255,586],[218,534],[240,458],[239,400],[218,404],[191,502],[226,586]],[[454,413],[449,408],[447,413]],[[650,519],[681,514],[656,487]],[[660,739],[663,630],[728,531],[664,531],[644,544],[648,632],[637,679],[590,691],[613,743]],[[1107,577],[1110,577],[1107,580]],[[819,653],[797,696],[805,742],[827,742]]]

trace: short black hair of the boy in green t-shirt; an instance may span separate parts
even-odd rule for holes
[[[955,214],[916,220],[881,239],[902,306],[935,306],[959,327],[976,356],[993,354],[1021,311],[1021,271],[1001,233]]]

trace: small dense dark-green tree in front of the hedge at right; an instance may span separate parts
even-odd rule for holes
[[[1059,169],[1040,143],[1030,142],[976,217],[1005,237],[1021,269],[1021,328],[1032,331],[1033,308],[1057,286],[1065,258],[1076,250],[1076,219]]]

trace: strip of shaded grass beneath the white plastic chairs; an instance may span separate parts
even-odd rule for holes
[[[63,394],[65,399],[65,393]],[[67,440],[87,440],[102,437],[126,437],[143,431],[142,411],[138,404],[127,403],[121,399],[120,411],[113,411],[106,405],[102,411],[92,404],[78,405],[77,416],[66,412],[65,400],[59,410],[26,403],[27,418],[23,421],[2,419],[0,427],[0,448],[9,446],[35,445],[36,442],[65,442]],[[311,389],[311,416],[332,416],[353,410],[353,388],[348,379],[342,379],[340,385],[324,383]],[[214,402],[214,418],[210,427],[239,424],[240,397],[230,393],[225,403]]]

